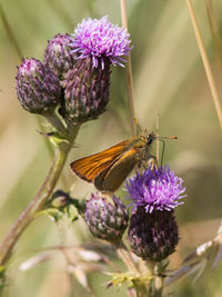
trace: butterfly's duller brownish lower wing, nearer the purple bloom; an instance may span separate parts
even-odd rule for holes
[[[95,188],[101,191],[115,191],[134,168],[137,152],[134,148],[127,150],[119,159],[99,174],[94,179]]]

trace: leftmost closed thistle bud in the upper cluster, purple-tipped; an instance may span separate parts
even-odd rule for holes
[[[59,79],[41,61],[23,59],[16,78],[19,101],[29,112],[48,115],[59,105]]]

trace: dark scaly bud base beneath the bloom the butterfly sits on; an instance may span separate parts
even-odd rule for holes
[[[165,259],[179,240],[173,211],[150,214],[142,207],[137,208],[131,216],[128,239],[138,257],[153,261]]]

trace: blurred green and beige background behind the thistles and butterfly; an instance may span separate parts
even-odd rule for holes
[[[184,179],[188,197],[176,210],[180,228],[178,251],[172,267],[198,245],[212,239],[222,216],[221,130],[209,85],[198,51],[185,1],[129,0],[129,31],[133,44],[132,69],[135,116],[143,128],[154,130],[160,115],[160,133],[178,136],[168,141],[165,162]],[[222,1],[212,1],[222,37]],[[109,19],[121,24],[118,0],[2,0],[1,6],[24,57],[43,60],[47,40],[58,32],[71,33],[83,18]],[[204,1],[194,1],[196,17],[213,73],[222,93],[222,81],[209,29]],[[20,63],[4,26],[0,22],[0,238],[34,197],[50,167],[51,156],[33,115],[19,105],[16,93],[17,66]],[[222,55],[222,52],[221,52]],[[82,126],[77,148],[69,160],[90,155],[129,138],[125,70],[113,68],[108,111]],[[43,121],[42,121],[43,125]],[[153,148],[154,149],[154,148]],[[69,162],[68,162],[69,164]],[[74,197],[87,197],[92,186],[74,178],[64,168],[65,187],[73,181]],[[59,185],[58,185],[59,187]],[[120,197],[124,192],[119,190]],[[80,245],[93,240],[84,222],[53,224],[38,218],[17,245],[9,263],[9,284],[4,296],[68,297],[90,296],[78,281],[70,283],[60,253],[50,261],[21,271],[20,265],[37,249],[59,245]],[[192,277],[168,290],[173,296],[222,296],[222,266],[192,284]],[[108,276],[89,275],[95,296],[127,296],[123,289],[105,289]],[[174,294],[173,294],[174,291]]]

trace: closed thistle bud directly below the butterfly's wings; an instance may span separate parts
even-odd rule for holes
[[[118,242],[128,227],[129,215],[124,204],[115,196],[109,201],[98,192],[87,201],[84,219],[95,237]]]

